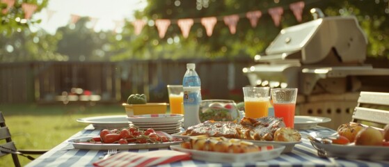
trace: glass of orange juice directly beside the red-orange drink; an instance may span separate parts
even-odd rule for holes
[[[269,87],[244,87],[244,113],[247,118],[268,116]]]

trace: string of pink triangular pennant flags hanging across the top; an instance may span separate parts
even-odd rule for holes
[[[7,8],[2,10],[3,14],[6,14],[10,8],[12,8],[15,4],[15,0],[1,0],[2,3],[7,4]],[[294,3],[289,4],[289,9],[292,10],[294,17],[296,17],[296,20],[298,22],[301,22],[302,15],[303,15],[303,8],[305,6],[304,1],[297,1]],[[24,11],[24,18],[25,19],[31,19],[31,16],[37,9],[37,5],[32,3],[22,3],[22,9]],[[56,13],[54,10],[46,10],[47,11],[47,22],[51,19],[51,17]],[[239,19],[241,18],[247,18],[253,28],[257,26],[257,23],[259,22],[260,17],[262,15],[268,13],[271,18],[273,19],[273,23],[275,26],[280,25],[280,19],[283,15],[284,8],[281,6],[269,8],[268,10],[254,10],[249,11],[247,13],[239,13],[234,15],[225,15],[225,16],[212,16],[212,17],[202,17],[202,18],[184,18],[184,19],[155,19],[154,23],[157,27],[159,38],[164,38],[166,35],[166,31],[168,30],[168,27],[171,24],[177,24],[177,26],[180,27],[180,30],[182,31],[182,35],[184,38],[187,38],[189,36],[189,32],[191,29],[191,26],[195,23],[200,23],[205,27],[205,31],[207,33],[207,36],[211,36],[214,31],[214,26],[217,22],[224,22],[226,26],[228,26],[228,29],[230,30],[231,34],[235,34],[237,31],[237,24],[239,22]],[[80,15],[70,15],[70,23],[75,24],[80,19]],[[92,27],[95,27],[95,25],[98,22],[99,18],[90,17],[90,24],[92,24]],[[114,30],[120,28],[120,26],[124,25],[124,20],[113,20],[113,23],[115,24]],[[132,23],[134,26],[134,33],[135,35],[139,35],[145,26],[147,24],[148,20],[145,19],[136,19]]]

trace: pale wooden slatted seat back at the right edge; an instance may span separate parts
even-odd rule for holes
[[[389,93],[360,92],[352,122],[379,128],[389,124]]]

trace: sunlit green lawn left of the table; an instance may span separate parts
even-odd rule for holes
[[[86,127],[77,118],[124,115],[120,104],[37,105],[0,104],[13,141],[18,149],[50,149]],[[33,155],[39,157],[39,155]],[[31,160],[19,156],[22,166]],[[13,166],[10,155],[0,157],[0,166]]]

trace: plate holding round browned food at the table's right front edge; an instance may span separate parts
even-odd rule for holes
[[[316,148],[325,150],[328,157],[345,159],[389,160],[389,147],[367,145],[337,145],[311,142]]]

